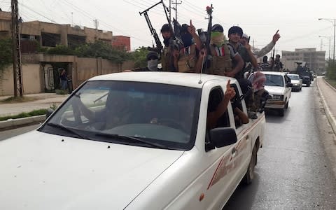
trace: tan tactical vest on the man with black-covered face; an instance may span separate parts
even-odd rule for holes
[[[190,45],[187,48],[183,48],[180,51],[179,62],[179,72],[194,72],[196,65],[196,46]]]

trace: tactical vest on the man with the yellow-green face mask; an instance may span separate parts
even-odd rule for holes
[[[210,74],[224,76],[225,72],[232,71],[232,60],[228,45],[223,44],[221,48],[217,48],[214,45],[211,45],[210,48],[212,62],[208,72]]]

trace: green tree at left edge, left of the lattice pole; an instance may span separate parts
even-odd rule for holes
[[[12,39],[0,39],[0,78],[6,66],[13,63]]]

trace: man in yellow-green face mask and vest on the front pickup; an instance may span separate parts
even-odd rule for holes
[[[212,59],[211,65],[207,66],[208,73],[235,77],[243,68],[243,59],[241,59],[239,53],[232,46],[225,43],[223,27],[219,24],[215,24],[211,29],[210,50]],[[200,72],[200,69],[202,69],[201,59],[206,57],[204,52],[205,50],[202,50],[200,59],[197,62],[197,72]]]

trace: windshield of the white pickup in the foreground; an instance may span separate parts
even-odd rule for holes
[[[178,85],[88,81],[40,131],[116,144],[189,150],[195,144],[200,94],[199,88]],[[139,141],[129,141],[134,139]]]

